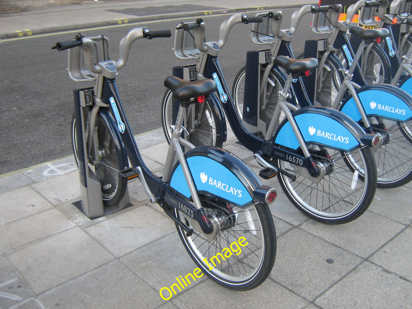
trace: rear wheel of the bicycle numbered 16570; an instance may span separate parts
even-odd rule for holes
[[[363,147],[345,153],[318,145],[308,145],[308,149],[315,162],[322,162],[328,169],[318,184],[297,173],[289,162],[274,160],[276,166],[297,176],[292,182],[283,173],[278,173],[279,183],[288,199],[309,218],[323,223],[347,223],[362,215],[372,202],[377,185],[372,150]],[[346,156],[351,156],[351,164]],[[366,175],[363,181],[356,176],[359,172]]]

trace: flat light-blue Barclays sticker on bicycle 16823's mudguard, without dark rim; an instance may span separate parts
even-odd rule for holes
[[[210,192],[240,206],[253,200],[241,181],[219,162],[203,156],[193,156],[186,160],[198,191]],[[180,165],[173,173],[170,186],[185,197],[190,197]]]

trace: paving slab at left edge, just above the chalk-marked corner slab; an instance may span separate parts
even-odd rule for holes
[[[55,208],[43,211],[0,226],[0,250],[7,252],[74,226]]]

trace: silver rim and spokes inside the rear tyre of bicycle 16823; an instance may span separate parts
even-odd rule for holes
[[[215,203],[215,201],[213,201]],[[233,205],[231,205],[233,207]],[[218,216],[217,211],[212,208],[205,207],[206,215],[214,214]],[[204,235],[194,231],[193,235],[187,237],[183,229],[180,228],[180,233],[183,235],[183,241],[190,250],[192,257],[197,260],[198,264],[203,265],[206,272],[219,281],[237,285],[244,284],[251,281],[260,271],[263,263],[263,256],[265,254],[265,239],[262,232],[262,225],[260,224],[259,214],[254,206],[240,209],[233,207],[236,214],[236,223],[230,229],[221,230],[217,238],[209,241]],[[180,213],[180,212],[179,212]],[[180,213],[179,217],[182,215]],[[249,217],[249,220],[248,218]],[[253,222],[251,225],[250,222]],[[253,227],[254,225],[254,227]],[[190,225],[189,225],[190,226]],[[255,234],[253,234],[255,233]],[[237,241],[239,237],[245,237],[247,241],[246,246],[236,246],[231,244]],[[246,243],[243,241],[243,243]],[[236,253],[231,250],[241,248],[241,253]],[[224,248],[230,248],[233,255],[229,255]],[[224,255],[225,260],[222,260],[218,255],[220,264],[213,258],[215,264],[211,262],[211,258],[217,253]],[[227,255],[229,257],[227,257]],[[203,262],[207,258],[207,262],[213,269]],[[216,266],[215,266],[216,265]]]

